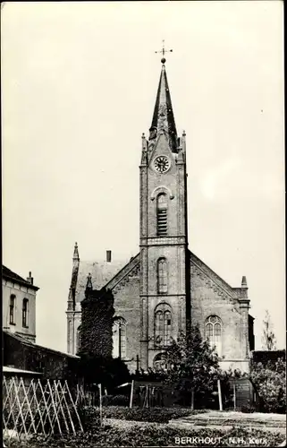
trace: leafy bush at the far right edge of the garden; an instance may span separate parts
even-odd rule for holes
[[[262,410],[286,412],[286,364],[283,358],[275,363],[252,364],[251,380],[257,388]]]

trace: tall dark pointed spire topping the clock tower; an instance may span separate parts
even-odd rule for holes
[[[176,152],[177,132],[173,116],[172,99],[163,61],[165,62],[165,58],[162,59],[163,65],[157,89],[154,116],[149,129],[149,138],[155,138],[156,134],[165,133],[169,137],[172,151]]]

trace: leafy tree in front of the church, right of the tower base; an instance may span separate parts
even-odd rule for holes
[[[215,382],[221,375],[215,349],[202,340],[198,326],[192,326],[187,336],[173,340],[165,354],[166,382],[175,383],[183,397],[195,397],[203,404],[214,391]],[[187,399],[190,401],[190,398]]]

